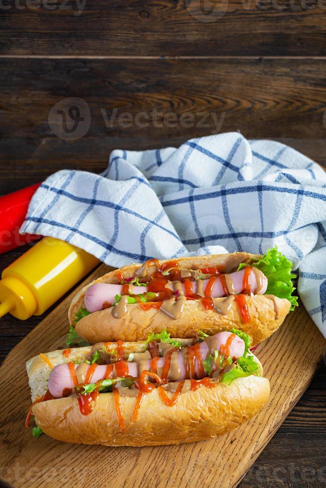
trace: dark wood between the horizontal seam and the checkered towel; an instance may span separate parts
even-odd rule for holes
[[[326,160],[324,60],[36,59],[31,63],[25,59],[17,63],[2,59],[0,63],[1,193],[11,191],[18,178],[26,186],[60,168],[99,172],[114,148],[178,146],[216,127],[220,132],[239,129],[248,138],[283,139],[295,146],[298,141],[299,150],[321,163]],[[91,124],[83,137],[63,140],[51,131],[48,114],[59,100],[70,97],[87,102]],[[113,109],[118,113],[107,127],[103,113],[110,117]],[[165,121],[162,126],[156,126],[155,110],[161,113],[160,124]],[[119,122],[126,112],[132,119],[130,127]],[[141,112],[150,118],[148,127],[136,122]],[[168,113],[176,117],[175,127],[166,123]],[[181,119],[186,113],[194,118],[191,127]],[[202,114],[208,118],[200,124]]]

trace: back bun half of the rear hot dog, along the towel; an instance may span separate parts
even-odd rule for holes
[[[185,269],[199,269],[209,267],[219,267],[222,268],[227,266],[228,260],[230,257],[234,259],[234,257],[238,260],[239,264],[241,262],[248,262],[251,258],[252,259],[260,259],[262,256],[258,254],[250,254],[249,252],[234,252],[232,254],[211,254],[207,256],[193,256],[193,257],[180,257],[178,259],[167,259],[165,261],[160,261],[161,264],[164,264],[169,261],[177,262],[178,265]],[[134,278],[137,269],[142,267],[142,264],[127,264],[126,266],[114,271],[110,271],[109,273],[97,278],[96,280],[92,281],[88,285],[84,286],[77,295],[72,299],[71,305],[68,311],[69,323],[71,325],[74,324],[75,314],[81,307],[84,307],[84,295],[87,290],[95,283],[120,283],[121,282],[121,274],[125,279]],[[146,278],[152,276],[152,274],[157,270],[157,266],[155,263],[151,263],[147,269]],[[121,273],[121,274],[120,274]],[[116,319],[119,322],[119,319]]]

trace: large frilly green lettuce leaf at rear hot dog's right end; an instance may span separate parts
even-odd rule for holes
[[[294,310],[298,306],[298,297],[292,295],[295,287],[291,280],[296,277],[291,273],[292,262],[277,250],[277,246],[267,249],[257,262],[241,263],[238,270],[246,266],[254,266],[265,274],[268,279],[266,294],[287,298],[291,302],[290,310]]]

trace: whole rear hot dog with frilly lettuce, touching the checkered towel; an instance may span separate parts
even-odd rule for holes
[[[88,343],[137,341],[166,329],[193,337],[241,328],[255,344],[269,337],[296,305],[292,264],[276,248],[151,259],[111,271],[72,300],[69,321]]]

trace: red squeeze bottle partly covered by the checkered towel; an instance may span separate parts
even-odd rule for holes
[[[40,184],[36,183],[0,197],[0,254],[41,237],[19,234],[29,202]]]

